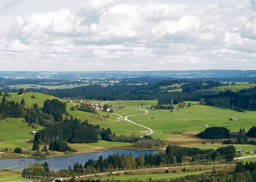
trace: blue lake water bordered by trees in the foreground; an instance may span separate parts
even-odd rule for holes
[[[87,154],[79,154],[79,155],[70,155],[65,157],[51,157],[49,159],[27,159],[28,165],[34,164],[36,162],[44,163],[47,162],[50,170],[60,170],[67,169],[68,166],[73,168],[75,162],[85,164],[89,159],[98,160],[99,156],[102,155],[103,159],[108,157],[108,155],[118,153],[120,156],[122,154],[131,153],[133,157],[137,157],[139,155],[147,154],[155,154],[159,151],[133,151],[133,150],[104,150],[101,152],[95,153],[87,153]],[[0,159],[0,169],[24,169],[25,159]]]

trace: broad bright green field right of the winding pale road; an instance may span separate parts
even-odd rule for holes
[[[153,119],[151,119],[153,117]],[[237,117],[238,121],[229,121],[230,117]],[[203,125],[227,127],[231,131],[239,131],[239,127],[248,130],[256,121],[256,112],[236,112],[221,107],[195,105],[174,110],[172,113],[163,110],[149,110],[149,114],[130,117],[134,122],[150,127],[154,133],[152,137],[160,139],[170,138],[165,132],[202,131]]]

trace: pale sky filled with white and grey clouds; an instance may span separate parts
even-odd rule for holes
[[[256,0],[0,0],[1,71],[256,69]]]

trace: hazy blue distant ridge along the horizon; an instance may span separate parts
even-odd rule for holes
[[[248,78],[256,79],[256,70],[159,70],[159,71],[0,71],[0,77],[11,79],[106,79],[106,78]]]

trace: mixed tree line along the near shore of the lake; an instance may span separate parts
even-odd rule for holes
[[[49,175],[51,176],[77,176],[83,174],[92,174],[98,172],[111,172],[115,170],[124,170],[124,169],[140,169],[150,166],[161,166],[161,165],[171,165],[182,163],[184,156],[192,157],[191,161],[205,162],[209,161],[222,161],[223,159],[232,161],[235,156],[235,147],[226,146],[218,148],[216,151],[201,150],[198,148],[189,148],[181,146],[171,146],[169,145],[165,150],[165,153],[156,153],[156,154],[145,154],[139,155],[136,158],[132,154],[128,155],[119,155],[113,154],[109,155],[107,158],[103,159],[102,156],[99,156],[98,160],[89,159],[85,162],[84,165],[76,162],[73,165],[73,169],[69,167],[68,169],[62,169],[59,171],[51,171]],[[199,157],[195,157],[199,156]],[[203,160],[203,161],[202,161]],[[42,174],[45,174],[45,171],[42,169],[42,164],[34,164],[35,166],[41,165]],[[28,170],[33,169],[33,165],[30,165]],[[26,170],[26,169],[25,169]],[[25,171],[24,170],[24,171]],[[24,173],[23,171],[23,173]],[[33,170],[29,172],[30,178],[33,176],[42,176],[41,174],[33,173]]]

